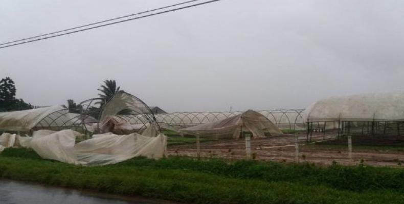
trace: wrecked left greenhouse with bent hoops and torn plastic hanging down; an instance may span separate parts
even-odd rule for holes
[[[103,104],[102,108],[100,104]],[[24,132],[32,137],[3,133],[0,136],[0,150],[26,146],[44,159],[82,165],[113,164],[136,156],[154,159],[166,156],[167,137],[160,132],[153,113],[139,98],[121,91],[107,103],[94,98],[80,107],[85,108],[80,110],[81,114],[69,113],[61,106],[1,113],[1,131]],[[130,114],[142,115],[145,127],[136,129],[140,131],[138,133],[111,133],[119,129],[121,124],[111,123],[111,118]],[[98,121],[94,118],[98,118]],[[82,132],[73,131],[71,127],[81,127]],[[38,129],[43,130],[36,131]],[[94,133],[91,138],[82,134],[88,134],[89,129]],[[76,143],[77,137],[82,137],[84,141]]]

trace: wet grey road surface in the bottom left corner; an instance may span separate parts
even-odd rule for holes
[[[165,200],[119,196],[96,192],[49,187],[39,184],[0,180],[1,204],[175,204]]]

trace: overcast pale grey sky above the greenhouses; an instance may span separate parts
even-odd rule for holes
[[[0,41],[181,1],[16,1]],[[402,91],[404,1],[222,0],[0,49],[0,77],[39,106],[97,96],[105,79],[166,111],[305,108]]]

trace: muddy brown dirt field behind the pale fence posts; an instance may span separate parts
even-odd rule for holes
[[[364,160],[373,166],[404,167],[404,136],[401,137],[369,137],[353,136],[352,160],[348,159],[347,139],[334,140],[335,136],[326,135],[329,140],[323,144],[305,145],[306,135],[299,134],[300,161],[307,161],[319,165],[330,165],[333,161],[343,165],[356,165]],[[388,138],[388,139],[386,139]],[[323,134],[312,136],[312,142],[323,140]],[[295,161],[295,136],[280,135],[268,138],[251,140],[251,150],[256,155],[256,160],[294,162]],[[388,142],[390,141],[390,143]],[[377,146],[360,145],[389,145],[378,148]],[[390,146],[402,147],[400,149],[389,148]],[[287,146],[291,145],[291,146]],[[280,147],[279,147],[280,146]],[[284,147],[282,147],[284,146]],[[271,148],[268,148],[271,147]],[[275,147],[275,148],[274,148]],[[261,148],[261,149],[260,149]],[[168,146],[169,155],[196,157],[196,144],[182,144]],[[245,159],[245,141],[243,139],[221,139],[200,143],[200,156],[204,158],[226,158],[230,160]],[[403,163],[402,165],[398,165]]]

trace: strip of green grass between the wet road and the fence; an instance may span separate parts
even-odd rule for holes
[[[0,176],[61,187],[187,203],[402,203],[404,170],[172,157],[84,167],[8,148]]]

